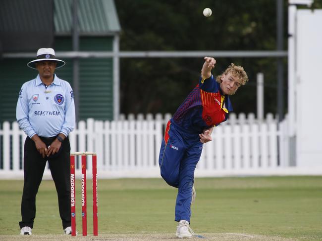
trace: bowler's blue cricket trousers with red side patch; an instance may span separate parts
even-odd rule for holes
[[[178,188],[175,204],[175,221],[190,223],[194,172],[200,159],[203,144],[199,133],[187,133],[168,121],[161,144],[159,165],[161,176],[172,187]]]

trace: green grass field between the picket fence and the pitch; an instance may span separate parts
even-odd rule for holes
[[[80,180],[77,184],[76,218],[81,233]],[[89,234],[91,185],[88,179]],[[19,234],[22,187],[23,181],[0,181],[0,240]],[[177,190],[162,179],[99,179],[98,187],[99,235],[174,237]],[[322,176],[196,178],[195,188],[190,227],[197,234],[218,234],[215,240],[226,240],[219,234],[267,238],[261,240],[322,240]],[[33,237],[61,233],[54,183],[44,180],[37,195]]]

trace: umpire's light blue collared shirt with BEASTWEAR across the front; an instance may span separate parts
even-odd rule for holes
[[[39,75],[25,82],[20,91],[16,117],[20,128],[31,138],[38,134],[53,137],[67,136],[75,127],[73,90],[65,80],[54,75],[46,86]]]

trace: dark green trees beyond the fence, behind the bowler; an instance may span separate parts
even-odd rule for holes
[[[319,7],[322,0],[315,3]],[[121,51],[275,50],[275,0],[115,0]],[[213,10],[204,17],[205,7]],[[321,6],[320,6],[321,7]],[[287,49],[287,0],[284,0]],[[232,96],[236,113],[256,112],[256,74],[265,75],[265,111],[276,113],[275,58],[216,58],[214,75],[242,65],[249,83]],[[202,58],[121,59],[121,113],[174,113],[198,83]],[[284,97],[287,100],[287,59]],[[286,104],[285,104],[286,106]]]

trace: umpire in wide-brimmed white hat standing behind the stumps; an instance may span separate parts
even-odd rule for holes
[[[31,235],[36,195],[47,161],[57,191],[62,227],[65,234],[71,234],[68,134],[75,126],[75,105],[70,84],[54,74],[56,68],[64,65],[64,61],[55,58],[54,49],[40,48],[37,59],[27,64],[39,74],[19,91],[16,117],[28,135],[24,145],[21,235]]]

